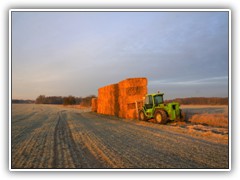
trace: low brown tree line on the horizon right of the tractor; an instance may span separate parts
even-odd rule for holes
[[[189,97],[166,100],[169,102],[179,102],[180,104],[199,104],[199,105],[228,105],[228,97]]]

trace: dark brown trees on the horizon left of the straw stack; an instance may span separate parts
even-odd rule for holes
[[[35,104],[63,104],[63,105],[74,105],[81,104],[82,106],[91,106],[92,98],[95,95],[90,95],[87,97],[75,97],[75,96],[45,96],[40,95],[36,98]]]

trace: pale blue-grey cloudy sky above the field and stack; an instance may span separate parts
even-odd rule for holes
[[[146,77],[165,99],[228,97],[228,12],[12,12],[12,98]]]

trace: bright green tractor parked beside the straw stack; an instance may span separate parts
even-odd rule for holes
[[[147,121],[154,118],[155,122],[159,124],[166,124],[167,121],[185,120],[185,114],[180,109],[180,104],[177,102],[165,104],[163,95],[164,93],[146,95],[139,111],[139,120]]]

